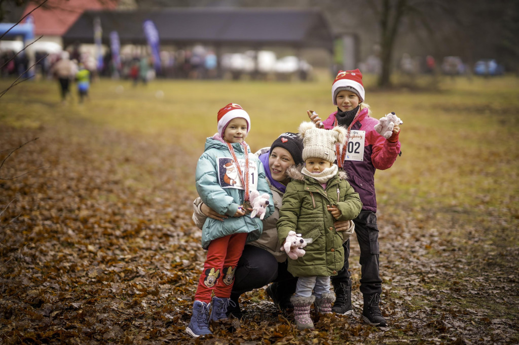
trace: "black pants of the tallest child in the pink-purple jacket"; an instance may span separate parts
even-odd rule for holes
[[[360,291],[364,295],[381,294],[382,279],[379,274],[379,249],[377,216],[371,211],[361,211],[356,219],[355,233],[360,247],[361,278]],[[349,271],[348,258],[350,256],[350,240],[343,244],[344,267],[337,276],[332,277],[332,283],[345,282],[351,285],[351,272]]]

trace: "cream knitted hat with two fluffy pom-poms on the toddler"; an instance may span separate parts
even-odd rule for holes
[[[348,130],[335,126],[331,130],[317,128],[313,122],[299,125],[299,136],[303,139],[303,161],[308,158],[320,158],[333,163],[335,161],[335,144],[346,143]]]

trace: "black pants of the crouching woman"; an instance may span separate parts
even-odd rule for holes
[[[260,289],[271,282],[280,282],[287,290],[295,291],[297,278],[294,278],[288,270],[288,263],[278,263],[274,255],[268,251],[247,245],[243,249],[238,267],[231,298],[237,300],[245,292]]]

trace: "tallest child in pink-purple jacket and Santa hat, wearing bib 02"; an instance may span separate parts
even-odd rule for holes
[[[375,130],[375,125],[379,121],[370,116],[370,106],[364,102],[365,91],[359,69],[339,71],[332,84],[332,100],[337,106],[337,111],[330,114],[326,120],[321,121],[319,115],[311,111],[308,112],[308,116],[314,123],[327,130],[335,126],[348,128],[349,141],[347,145],[336,149],[336,160],[339,169],[348,174],[348,181],[359,193],[363,204],[362,211],[353,220],[360,247],[360,291],[364,300],[362,315],[367,323],[386,326],[386,319],[379,307],[382,279],[379,274],[378,227],[375,214],[375,170],[388,169],[397,159],[400,153],[400,126],[395,124],[392,135],[387,139]],[[332,278],[337,296],[333,311],[349,314],[352,311],[349,240],[343,247],[346,258],[344,268]]]

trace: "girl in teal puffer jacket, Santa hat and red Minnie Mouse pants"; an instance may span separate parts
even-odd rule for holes
[[[204,204],[230,217],[223,221],[207,218],[203,224],[202,248],[208,252],[198,281],[193,315],[186,328],[193,337],[212,334],[209,321],[227,319],[243,247],[246,242],[257,240],[263,231],[259,218],[244,217],[249,210],[247,203],[253,202],[249,200],[250,191],[270,195],[264,219],[274,211],[263,165],[244,141],[250,131],[249,114],[238,104],[229,103],[218,111],[217,124],[218,133],[207,138],[198,160],[196,189]]]

